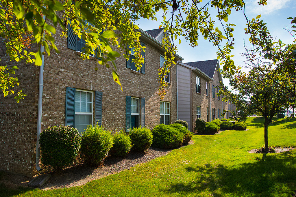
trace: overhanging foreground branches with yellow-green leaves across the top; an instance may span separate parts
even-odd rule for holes
[[[260,0],[259,5],[265,5],[267,0]],[[231,60],[231,50],[234,49],[234,24],[228,23],[228,16],[231,11],[242,10],[244,14],[245,3],[243,0],[208,0],[202,4],[202,0],[149,0],[149,1],[109,1],[109,0],[0,0],[0,35],[6,39],[7,53],[11,60],[27,63],[34,62],[41,65],[41,51],[30,52],[30,41],[44,46],[45,51],[50,55],[50,48],[59,53],[54,37],[58,26],[64,32],[61,36],[67,36],[67,25],[73,28],[73,32],[80,38],[86,40],[86,47],[81,58],[89,58],[90,53],[100,50],[104,56],[99,64],[112,69],[112,76],[120,86],[120,79],[117,74],[115,58],[119,53],[112,50],[116,46],[122,55],[128,59],[128,48],[134,47],[135,58],[133,61],[141,67],[144,58],[141,51],[139,28],[135,25],[140,18],[157,20],[156,13],[162,11],[162,26],[167,35],[163,38],[165,48],[165,65],[159,69],[160,94],[163,97],[166,83],[163,76],[170,70],[170,65],[176,64],[174,53],[177,48],[174,40],[180,43],[183,36],[190,41],[191,45],[197,46],[198,37],[202,36],[217,46],[217,56],[223,64],[223,70],[234,74],[236,66]],[[75,2],[75,3],[73,3]],[[209,7],[217,11],[216,20],[222,26],[221,30],[215,25],[214,18],[210,17]],[[245,15],[245,14],[244,14]],[[88,21],[94,26],[85,23]],[[251,24],[247,19],[247,33],[250,39],[254,37],[257,24]],[[260,24],[259,24],[260,25]],[[104,32],[102,33],[102,31]],[[117,30],[116,35],[113,30]],[[101,34],[102,33],[102,34]],[[120,39],[118,39],[120,38]],[[45,53],[44,53],[45,54]],[[34,57],[32,57],[34,55]],[[109,64],[108,62],[112,62]],[[16,93],[19,98],[25,96],[21,91],[13,90],[18,84],[17,78],[9,78],[17,67],[10,70],[1,68],[1,89],[4,95]],[[97,68],[94,68],[97,69]],[[6,75],[7,77],[3,77]],[[9,83],[13,81],[14,83]]]

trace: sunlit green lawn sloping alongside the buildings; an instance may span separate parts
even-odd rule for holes
[[[292,196],[296,191],[296,149],[254,154],[264,144],[262,118],[248,118],[248,131],[194,135],[194,145],[86,185],[4,196]],[[296,121],[275,119],[270,146],[295,146]]]

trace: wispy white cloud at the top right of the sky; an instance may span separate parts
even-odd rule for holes
[[[277,10],[288,7],[288,3],[294,0],[268,0],[267,5],[258,5],[258,0],[247,3],[247,9],[255,14],[274,14]]]

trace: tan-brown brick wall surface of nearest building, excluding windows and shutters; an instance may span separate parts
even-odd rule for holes
[[[56,35],[59,34],[60,30],[57,29]],[[158,95],[157,69],[162,53],[157,46],[145,43],[145,74],[137,74],[126,68],[123,56],[116,59],[122,92],[114,82],[110,69],[99,65],[94,58],[81,60],[79,53],[67,48],[67,38],[55,36],[55,39],[60,53],[52,51],[51,56],[44,56],[41,131],[49,126],[65,125],[66,87],[102,92],[102,124],[108,131],[126,128],[126,96],[145,98],[145,126],[152,128],[160,123],[161,100]],[[1,60],[8,59],[4,53],[1,54]],[[2,61],[1,64],[7,62]],[[39,68],[32,64],[18,66],[21,88],[28,96],[19,104],[12,97],[4,98],[3,94],[0,96],[0,170],[32,176],[37,173],[35,157]],[[99,69],[95,71],[95,67]],[[177,118],[176,65],[171,67],[170,78],[168,93],[163,101],[170,102],[170,122],[173,123]],[[42,165],[41,168],[43,171],[48,169]]]

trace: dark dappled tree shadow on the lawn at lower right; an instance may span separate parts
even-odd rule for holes
[[[187,167],[187,172],[195,172],[195,180],[190,183],[171,184],[167,193],[186,196],[202,191],[213,196],[291,196],[296,185],[296,158],[291,154],[260,154],[256,162],[238,166],[224,165]],[[285,186],[288,185],[288,188]]]

